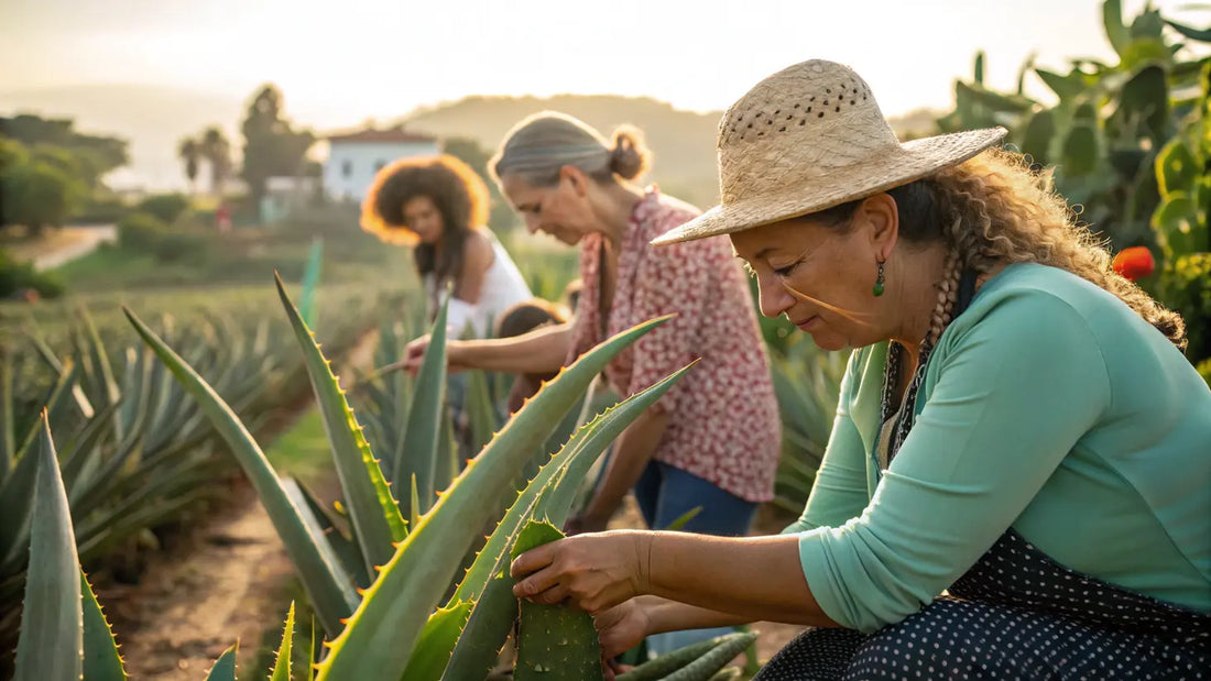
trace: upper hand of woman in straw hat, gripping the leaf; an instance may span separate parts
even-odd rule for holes
[[[513,595],[540,604],[568,601],[598,614],[645,593],[650,532],[620,530],[578,535],[528,550],[513,560]]]

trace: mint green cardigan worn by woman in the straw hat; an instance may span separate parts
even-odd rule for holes
[[[1211,389],[1114,295],[1033,264],[989,279],[939,340],[880,471],[885,360],[886,344],[850,357],[786,529],[832,619],[900,622],[1008,527],[1072,570],[1211,611]]]

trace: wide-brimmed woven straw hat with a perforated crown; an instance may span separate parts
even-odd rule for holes
[[[719,121],[719,206],[652,243],[739,232],[865,198],[962,163],[1005,133],[901,144],[853,69],[794,64],[757,83]]]

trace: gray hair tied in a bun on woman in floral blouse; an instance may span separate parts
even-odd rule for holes
[[[614,175],[635,179],[647,169],[649,157],[643,135],[635,128],[620,127],[610,143],[579,119],[541,111],[509,131],[488,168],[498,183],[512,174],[530,186],[552,186],[564,166],[580,168],[598,181],[610,181]]]

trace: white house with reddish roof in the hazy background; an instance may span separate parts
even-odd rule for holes
[[[404,131],[403,126],[333,134],[327,140],[323,186],[338,201],[361,201],[374,173],[396,158],[441,152],[437,138]]]

